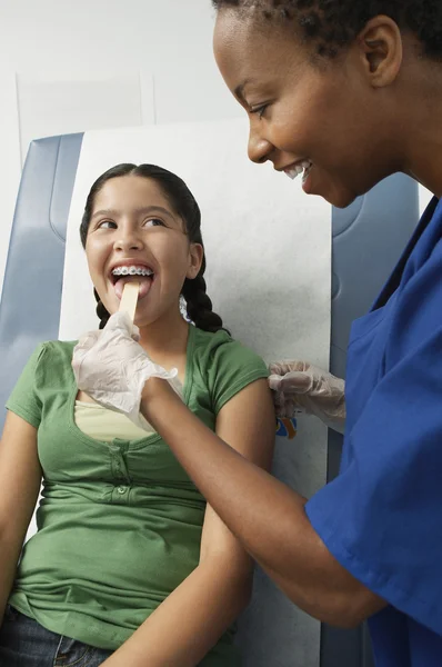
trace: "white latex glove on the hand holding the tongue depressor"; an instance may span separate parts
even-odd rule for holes
[[[137,342],[139,329],[127,312],[115,312],[102,331],[90,331],[73,349],[72,368],[78,388],[101,406],[123,412],[137,426],[148,424],[140,415],[141,394],[149,378],[169,380],[180,392],[177,369],[153,364]]]

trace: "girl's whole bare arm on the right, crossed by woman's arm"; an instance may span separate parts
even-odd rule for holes
[[[180,421],[172,420],[171,428],[177,438],[184,436]],[[199,447],[204,447],[205,430]],[[274,430],[265,380],[243,389],[217,419],[218,437],[263,467],[271,462]],[[198,567],[103,666],[194,667],[247,606],[251,581],[250,557],[208,506]]]

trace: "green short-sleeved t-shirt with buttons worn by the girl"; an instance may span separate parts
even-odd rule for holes
[[[268,371],[224,331],[189,331],[183,400],[214,430],[219,410]],[[10,603],[49,630],[117,649],[197,567],[205,501],[159,435],[102,442],[80,431],[74,345],[40,345],[7,404],[38,428],[43,470]],[[238,665],[232,638],[201,665]]]

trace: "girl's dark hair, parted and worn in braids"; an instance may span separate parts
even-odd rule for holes
[[[84,207],[84,213],[80,226],[80,238],[83,248],[88,237],[89,223],[93,212],[96,196],[101,188],[112,178],[121,176],[139,176],[153,179],[161,187],[164,196],[168,198],[174,211],[183,219],[185,231],[191,243],[203,246],[201,237],[201,212],[200,208],[184,181],[161,167],[155,165],[117,165],[102,173],[93,183]],[[202,260],[201,269],[194,279],[187,278],[182,286],[182,296],[187,301],[189,319],[194,322],[199,329],[204,331],[218,331],[223,329],[222,319],[212,310],[212,301],[205,292],[205,253]],[[100,318],[100,329],[102,329],[110,315],[94,290],[98,301],[97,315]],[[227,329],[225,329],[227,330]]]

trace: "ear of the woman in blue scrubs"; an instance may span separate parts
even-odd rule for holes
[[[393,19],[384,16],[371,19],[359,33],[356,48],[373,88],[393,83],[403,59],[402,34]]]

